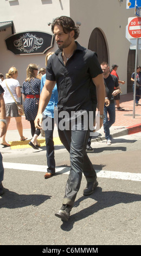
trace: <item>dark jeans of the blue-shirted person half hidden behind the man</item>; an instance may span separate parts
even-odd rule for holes
[[[46,156],[47,156],[47,172],[55,173],[55,158],[54,158],[54,141],[53,141],[53,131],[54,131],[54,118],[46,117],[43,118],[47,120],[47,123],[44,124],[47,129],[44,129],[45,138],[46,138]]]

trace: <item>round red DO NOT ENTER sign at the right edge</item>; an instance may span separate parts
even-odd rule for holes
[[[132,38],[141,38],[141,17],[136,17],[130,21],[128,31]]]

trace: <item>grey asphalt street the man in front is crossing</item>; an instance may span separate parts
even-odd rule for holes
[[[0,197],[1,245],[140,245],[141,133],[92,142],[88,153],[99,185],[81,187],[68,222],[55,217],[69,173],[69,154],[55,145],[56,175],[44,179],[46,148],[3,149],[5,193]]]

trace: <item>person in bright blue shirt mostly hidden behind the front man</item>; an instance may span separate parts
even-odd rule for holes
[[[47,61],[52,56],[53,52],[49,52],[46,55],[46,66]],[[44,74],[41,78],[41,91],[43,89],[44,83],[46,82],[46,74]],[[45,179],[52,177],[55,174],[55,157],[54,157],[54,141],[53,141],[53,131],[54,131],[54,107],[57,107],[58,102],[58,92],[57,86],[52,92],[52,96],[50,97],[50,101],[48,105],[44,109],[43,112],[43,130],[46,138],[46,156],[47,156],[47,173],[44,175]]]

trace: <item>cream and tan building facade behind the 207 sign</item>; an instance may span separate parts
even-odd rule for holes
[[[22,86],[28,64],[35,63],[39,69],[45,68],[46,53],[57,50],[54,38],[49,48],[46,48],[48,43],[43,40],[43,52],[35,50],[16,54],[8,50],[6,41],[14,34],[17,40],[20,40],[21,35],[18,37],[18,34],[22,33],[23,38],[21,36],[21,41],[18,41],[19,45],[24,45],[24,50],[26,47],[31,48],[29,46],[33,40],[25,37],[25,34],[41,32],[52,36],[49,23],[61,15],[70,16],[75,24],[78,23],[80,36],[77,41],[80,45],[97,52],[100,63],[106,61],[110,68],[114,63],[119,66],[119,79],[126,81],[121,90],[123,94],[132,92],[130,78],[134,71],[135,50],[130,50],[130,41],[126,39],[125,34],[128,18],[136,16],[134,9],[126,9],[126,0],[1,0],[0,73],[5,77],[9,68],[16,66],[17,79]],[[10,41],[12,44],[11,39]],[[138,64],[141,65],[140,50]]]

